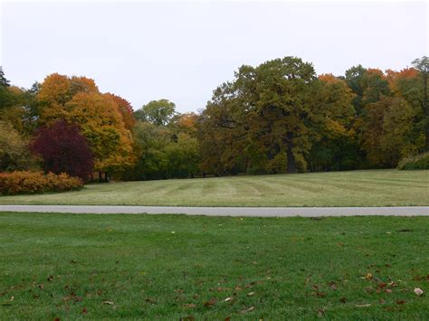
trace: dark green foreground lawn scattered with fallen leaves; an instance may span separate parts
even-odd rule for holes
[[[424,217],[4,212],[0,318],[427,320],[427,244]]]

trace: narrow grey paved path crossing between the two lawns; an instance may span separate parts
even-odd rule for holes
[[[207,216],[429,216],[429,206],[407,207],[175,207],[99,205],[0,205],[0,212],[71,212],[94,214],[186,214]]]

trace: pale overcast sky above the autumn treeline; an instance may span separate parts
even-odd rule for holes
[[[11,83],[86,76],[134,109],[153,99],[204,109],[241,65],[284,56],[342,75],[359,63],[401,70],[429,52],[426,1],[0,2]]]

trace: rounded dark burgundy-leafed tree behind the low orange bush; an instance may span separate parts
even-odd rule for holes
[[[51,127],[39,128],[31,149],[42,156],[45,172],[67,173],[81,178],[91,174],[91,149],[76,125],[61,120]]]

